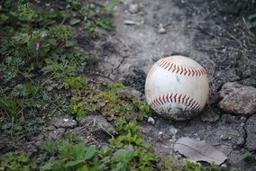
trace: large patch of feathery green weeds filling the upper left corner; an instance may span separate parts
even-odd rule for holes
[[[0,137],[12,146],[29,132],[40,131],[41,118],[67,112],[69,92],[61,88],[65,80],[96,64],[75,37],[87,23],[95,23],[90,34],[96,34],[101,27],[97,21],[108,18],[114,1],[92,5],[80,0],[0,2]],[[25,127],[25,122],[32,124]]]

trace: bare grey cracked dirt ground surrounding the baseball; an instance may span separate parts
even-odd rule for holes
[[[139,9],[129,11],[131,4]],[[178,54],[206,67],[211,95],[200,116],[176,122],[155,115],[154,125],[142,123],[142,132],[161,157],[173,154],[175,139],[187,136],[214,145],[241,170],[256,166],[255,149],[251,161],[241,159],[249,150],[247,135],[255,135],[247,126],[251,116],[218,107],[224,83],[256,85],[256,41],[243,18],[255,9],[255,2],[249,0],[122,0],[114,9],[115,31],[102,31],[105,38],[87,44],[100,59],[101,75],[123,82],[142,100],[146,74],[158,59]]]

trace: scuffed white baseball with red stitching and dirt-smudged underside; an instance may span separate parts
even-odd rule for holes
[[[190,119],[208,99],[206,69],[183,56],[161,58],[148,73],[145,95],[147,103],[160,115],[176,121]]]

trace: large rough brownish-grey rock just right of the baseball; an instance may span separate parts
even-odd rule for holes
[[[219,103],[225,112],[251,115],[256,112],[256,88],[229,82],[223,85],[219,95],[223,100]]]

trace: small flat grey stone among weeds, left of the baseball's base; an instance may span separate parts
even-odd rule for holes
[[[55,116],[50,123],[56,128],[75,128],[78,125],[69,115]]]

